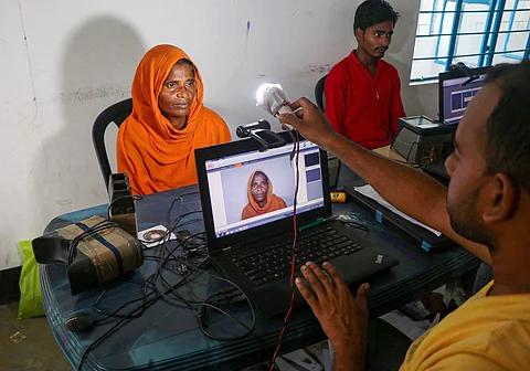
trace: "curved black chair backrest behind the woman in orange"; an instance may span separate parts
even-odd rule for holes
[[[110,163],[108,162],[107,150],[105,148],[105,130],[107,129],[110,123],[116,124],[119,128],[121,123],[130,115],[132,112],[132,98],[128,98],[121,102],[118,102],[97,116],[92,127],[92,141],[94,144],[94,149],[96,150],[97,161],[99,162],[99,168],[102,169],[103,180],[105,181],[105,187],[108,192],[108,179],[110,173]]]

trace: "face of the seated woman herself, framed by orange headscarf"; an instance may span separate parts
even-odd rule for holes
[[[176,64],[158,95],[158,108],[170,121],[186,118],[195,96],[197,83],[193,70],[187,64]]]

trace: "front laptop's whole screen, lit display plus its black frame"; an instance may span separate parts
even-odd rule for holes
[[[244,140],[195,151],[210,246],[229,246],[264,233],[293,229],[296,187],[293,147],[289,142],[261,152],[252,141]],[[301,140],[296,205],[300,223],[330,214],[327,172],[325,152],[317,145]]]

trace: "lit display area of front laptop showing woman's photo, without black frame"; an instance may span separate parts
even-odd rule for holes
[[[206,161],[216,237],[293,216],[296,161],[293,144]],[[318,146],[300,142],[297,214],[324,205]]]

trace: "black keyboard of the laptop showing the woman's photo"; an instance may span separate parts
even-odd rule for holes
[[[299,232],[296,243],[295,272],[308,261],[316,264],[340,255],[350,255],[362,246],[329,226]],[[293,240],[267,246],[241,246],[232,259],[256,285],[290,275]]]

